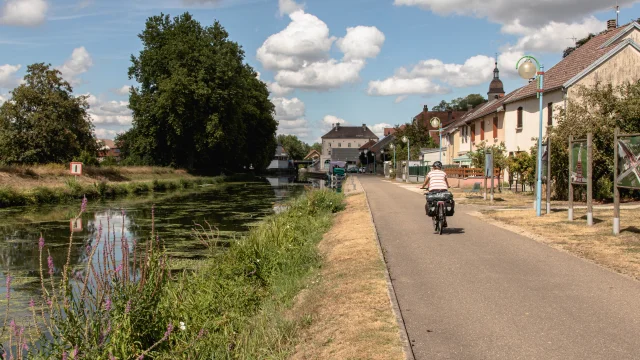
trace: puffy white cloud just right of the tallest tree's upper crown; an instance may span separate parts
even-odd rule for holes
[[[317,17],[296,11],[289,15],[291,23],[273,34],[258,49],[257,57],[270,70],[297,70],[308,63],[328,58],[335,37]]]

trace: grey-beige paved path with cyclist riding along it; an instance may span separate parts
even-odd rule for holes
[[[640,359],[640,282],[359,178],[416,359]]]

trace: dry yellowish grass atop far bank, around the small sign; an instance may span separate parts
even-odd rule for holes
[[[0,166],[0,187],[29,189],[36,186],[65,186],[71,179],[69,167],[65,164],[47,164],[37,166]],[[161,177],[164,180],[194,178],[184,170],[151,166],[131,167],[90,167],[84,168],[83,176],[78,176],[81,184],[92,184],[96,181],[130,182],[150,181]]]

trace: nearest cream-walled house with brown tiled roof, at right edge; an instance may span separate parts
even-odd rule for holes
[[[632,22],[608,28],[562,59],[544,74],[543,136],[547,126],[558,123],[559,109],[576,99],[580,85],[607,83],[613,86],[640,79],[640,24]],[[505,145],[509,154],[528,151],[536,144],[540,121],[536,82],[518,89],[503,103]]]

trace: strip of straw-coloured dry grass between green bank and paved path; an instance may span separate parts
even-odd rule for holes
[[[365,196],[346,201],[319,245],[320,284],[294,307],[310,324],[292,359],[404,359]]]

